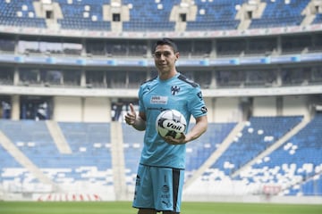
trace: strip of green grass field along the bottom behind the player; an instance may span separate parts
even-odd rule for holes
[[[0,202],[0,214],[135,214],[131,202]],[[182,214],[321,214],[321,205],[183,202]]]

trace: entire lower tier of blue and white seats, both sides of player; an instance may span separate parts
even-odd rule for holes
[[[240,184],[235,190],[237,194],[260,194],[264,187],[278,186],[277,193],[280,195],[320,195],[320,114],[300,131],[292,133],[292,137],[265,157],[259,156],[287,132],[292,131],[301,119],[301,116],[251,118],[242,132],[231,139],[232,142],[229,142],[229,146],[217,161],[204,169],[197,184],[202,186],[202,183],[209,184],[213,181],[210,186],[214,186],[217,194],[221,194],[220,191],[227,193],[235,182]],[[210,156],[222,146],[236,125],[210,123],[208,133],[188,145],[186,181],[210,160]],[[59,146],[54,143],[55,136],[50,134],[52,131],[43,121],[1,120],[2,133],[9,139],[8,142],[4,142],[3,136],[0,139],[1,184],[5,190],[47,193],[48,184],[44,184],[39,175],[30,173],[30,165],[26,162],[19,164],[21,160],[27,159],[61,188],[61,191],[78,185],[111,186],[114,184],[113,172],[117,171],[124,172],[121,180],[124,180],[131,191],[135,185],[143,132],[138,135],[128,126],[122,125],[122,132],[117,135],[123,138],[123,142],[118,144],[123,150],[123,155],[119,158],[122,157],[124,165],[113,165],[113,152],[119,151],[110,144],[109,123],[60,122],[58,126],[62,130],[66,145],[71,148],[70,152],[59,151]],[[21,154],[18,155],[15,150]],[[255,162],[249,166],[250,161]],[[234,175],[234,171],[242,168],[244,169],[238,175]],[[232,184],[227,186],[227,180]],[[209,189],[212,187],[208,188],[208,191],[212,191]],[[97,193],[95,191],[95,188],[83,189],[80,193]],[[113,190],[109,191],[114,193]],[[105,198],[104,195],[100,197]]]

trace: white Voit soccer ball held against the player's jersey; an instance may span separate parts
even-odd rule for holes
[[[172,136],[178,139],[186,130],[187,121],[180,111],[165,110],[157,116],[156,128],[159,136]]]

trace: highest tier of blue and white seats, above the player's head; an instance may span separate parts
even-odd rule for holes
[[[244,15],[250,21],[250,29],[274,28],[281,26],[301,26],[306,15],[304,9],[315,1],[49,1],[55,10],[41,12],[40,5],[52,8],[41,1],[2,1],[0,24],[17,27],[50,28],[47,20],[54,19],[61,29],[111,31],[112,22],[121,22],[123,31],[174,31],[176,21],[186,23],[187,31],[238,29]],[[256,7],[254,10],[252,7]],[[112,10],[110,10],[112,8]],[[122,8],[122,9],[120,9]],[[181,9],[178,17],[174,11]],[[187,8],[189,10],[187,10]],[[251,9],[250,9],[251,8]],[[127,11],[122,14],[120,11]],[[278,11],[278,12],[276,12]],[[258,12],[262,14],[258,17]],[[106,14],[110,14],[107,16]],[[317,15],[316,15],[317,14]],[[321,23],[320,14],[311,22]]]

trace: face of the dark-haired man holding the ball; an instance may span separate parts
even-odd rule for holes
[[[174,49],[169,45],[157,45],[153,56],[157,70],[165,73],[174,70],[179,53],[174,53]]]

